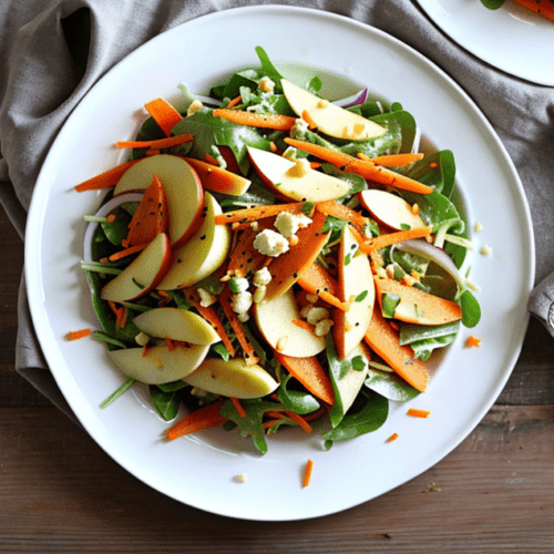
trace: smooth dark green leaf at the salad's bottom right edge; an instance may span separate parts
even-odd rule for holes
[[[334,429],[321,437],[325,441],[355,439],[379,429],[389,414],[389,401],[371,390],[362,390],[348,414]]]

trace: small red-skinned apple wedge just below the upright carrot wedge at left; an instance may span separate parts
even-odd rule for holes
[[[155,288],[170,267],[170,239],[160,233],[120,275],[104,285],[101,297],[114,302],[138,298]]]

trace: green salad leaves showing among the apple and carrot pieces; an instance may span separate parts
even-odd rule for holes
[[[248,156],[248,147],[267,152],[290,152],[285,140],[291,136],[358,158],[418,152],[419,133],[413,116],[400,103],[389,103],[367,91],[360,96],[361,100],[358,103],[355,101],[346,109],[386,129],[382,135],[368,140],[334,138],[306,126],[295,126],[291,131],[258,129],[214,116],[214,107],[225,107],[233,99],[239,99],[239,103],[234,105],[234,110],[297,117],[284,93],[281,74],[261,48],[257,48],[256,52],[260,61],[259,68],[233,73],[225,82],[214,85],[209,90],[208,98],[197,96],[185,85],[179,85],[182,101],[178,111],[183,119],[173,129],[173,134],[191,133],[194,140],[163,150],[163,153],[166,154],[199,161],[211,157],[218,162],[223,168],[235,168],[236,171],[237,167],[240,174],[252,182],[248,189],[240,195],[212,193],[224,213],[284,202],[276,196],[275,188],[267,187],[256,172]],[[274,84],[270,89],[263,85],[268,80]],[[306,89],[310,93],[319,95],[322,82],[318,76],[314,76]],[[198,98],[203,101],[203,107],[192,113],[189,107]],[[162,137],[165,137],[162,129],[153,117],[148,117],[142,125],[136,141],[152,141]],[[228,152],[232,153],[232,157],[229,157]],[[132,150],[131,160],[145,156],[146,148]],[[301,150],[296,150],[294,156],[297,160],[314,160]],[[229,160],[236,162],[236,167],[229,164]],[[394,309],[400,301],[398,296],[383,295],[382,308],[376,298],[375,310],[382,310],[382,315],[393,322],[398,329],[399,345],[411,349],[411,360],[427,362],[435,350],[454,341],[461,325],[465,327],[476,325],[480,317],[479,302],[472,294],[469,276],[462,276],[459,273],[468,249],[471,248],[471,243],[468,238],[466,224],[452,201],[455,191],[455,162],[452,152],[448,150],[434,152],[425,155],[422,160],[393,167],[394,172],[432,187],[433,192],[427,195],[403,189],[392,191],[390,187],[367,181],[352,171],[342,171],[341,167],[327,162],[321,163],[318,171],[348,184],[348,194],[336,202],[367,218],[367,238],[379,236],[383,226],[371,214],[368,215],[363,206],[360,205],[358,195],[369,188],[387,189],[410,205],[419,206],[420,217],[425,225],[432,227],[434,246],[438,246],[438,249],[442,254],[445,253],[452,260],[452,267],[445,267],[441,263],[442,258],[429,255],[428,249],[403,248],[402,245],[384,247],[379,250],[379,255],[375,259],[371,259],[373,274],[387,269],[387,275],[391,277],[392,273],[393,279],[398,281],[406,281],[409,276],[417,274],[418,279],[413,283],[416,288],[429,295],[452,300],[461,306],[460,320],[430,326],[396,319]],[[109,192],[103,198],[103,203],[110,202],[112,197],[112,193]],[[94,331],[93,336],[105,342],[111,351],[137,347],[136,341],[137,337],[141,336],[141,329],[133,320],[143,312],[163,306],[177,307],[202,315],[195,308],[194,302],[189,301],[184,290],[176,288],[163,294],[163,291],[154,289],[137,298],[121,302],[121,308],[126,314],[124,325],[121,325],[121,320],[117,320],[114,315],[113,306],[102,298],[102,288],[105,284],[124,270],[140,255],[124,257],[113,263],[105,261],[112,254],[122,249],[122,244],[124,244],[129,233],[129,224],[137,205],[136,202],[123,203],[115,212],[115,218],[100,218],[100,224],[92,237],[92,260],[85,260],[83,264],[92,289],[94,310],[101,326],[101,330]],[[312,213],[312,208],[311,203],[305,203],[304,212],[306,214]],[[349,223],[346,219],[327,216],[324,230],[328,233],[328,239],[316,263],[331,275],[336,273],[338,244],[347,226]],[[425,240],[421,239],[421,242]],[[377,266],[376,260],[379,261]],[[224,287],[228,286],[226,280],[222,280],[220,275],[214,273],[194,284],[193,287],[217,298]],[[252,275],[246,277],[252,278]],[[294,289],[295,291],[299,290],[298,285],[295,285]],[[236,350],[235,357],[243,357],[244,350],[240,341],[225,311],[217,302],[213,304],[212,308],[224,324],[225,334]],[[161,418],[166,421],[175,419],[182,404],[188,411],[195,412],[202,407],[223,400],[219,414],[225,420],[224,429],[229,432],[239,432],[243,437],[252,437],[258,451],[265,453],[268,449],[267,435],[298,424],[293,414],[306,417],[319,410],[318,421],[320,423],[318,425],[322,429],[321,437],[325,447],[329,449],[335,441],[352,439],[380,428],[387,420],[389,402],[406,402],[420,393],[375,352],[370,359],[360,355],[340,359],[334,334],[330,331],[325,336],[324,350],[317,355],[317,360],[325,369],[335,391],[335,402],[329,406],[304,387],[278,361],[274,348],[265,340],[255,318],[243,318],[242,328],[259,360],[257,365],[275,379],[278,383],[277,389],[263,398],[242,399],[240,404],[246,412],[245,416],[239,413],[236,404],[229,398],[208,390],[201,390],[187,383],[186,379],[150,384],[152,402]],[[207,358],[227,361],[232,359],[232,353],[222,341],[218,341],[209,346]],[[345,410],[341,402],[340,382],[349,371],[363,371],[366,377],[356,399]],[[133,382],[135,382],[134,378],[127,378],[123,386],[105,400],[103,407],[124,393]],[[265,422],[270,419],[268,413],[275,412],[277,408],[285,413],[285,417],[279,418],[270,427],[265,425]],[[321,408],[326,409],[321,410]],[[287,413],[291,417],[286,416]],[[309,418],[307,420],[309,421]]]

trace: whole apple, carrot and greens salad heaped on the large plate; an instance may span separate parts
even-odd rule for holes
[[[106,189],[82,268],[125,380],[168,440],[216,425],[266,438],[379,429],[424,393],[435,350],[480,318],[452,152],[419,152],[412,115],[368,90],[331,102],[314,76],[260,66],[207,96],[155,99]],[[80,338],[86,332],[74,332]]]

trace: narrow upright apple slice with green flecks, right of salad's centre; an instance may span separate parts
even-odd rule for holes
[[[332,336],[341,360],[361,342],[373,312],[376,289],[369,259],[358,248],[358,240],[345,227],[338,256],[338,295],[350,302],[348,311],[335,310]]]

